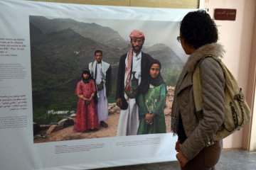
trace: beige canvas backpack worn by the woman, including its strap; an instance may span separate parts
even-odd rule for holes
[[[220,126],[212,139],[220,140],[228,137],[228,135],[232,134],[236,130],[240,130],[240,128],[249,123],[251,112],[245,101],[245,96],[242,94],[242,89],[238,86],[238,82],[235,80],[235,77],[233,77],[228,68],[225,67],[225,64],[213,55],[206,55],[198,62],[198,65],[193,72],[193,97],[196,106],[196,115],[199,122],[203,119],[203,96],[201,93],[199,64],[206,57],[212,57],[220,64],[225,77],[225,118],[223,125]]]

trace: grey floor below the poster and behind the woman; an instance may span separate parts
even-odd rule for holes
[[[132,166],[118,166],[97,170],[176,170],[180,169],[178,162],[161,162],[154,164],[140,164]],[[242,149],[223,150],[215,170],[253,170],[256,169],[256,150]]]

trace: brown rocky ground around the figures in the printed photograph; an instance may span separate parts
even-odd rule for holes
[[[169,93],[166,98],[166,108],[164,109],[164,114],[166,118],[166,132],[171,132],[171,105],[174,96],[174,87],[169,86],[167,89]],[[119,115],[119,108],[115,103],[110,103],[109,118],[105,121],[109,125],[108,128],[100,127],[99,130],[92,132],[74,132],[73,125],[71,125],[67,128],[53,130],[52,132],[49,132],[47,129],[40,130],[36,135],[34,135],[34,143],[55,142],[63,140],[81,140],[99,137],[115,137],[117,135]],[[42,135],[43,137],[38,137],[38,135]]]

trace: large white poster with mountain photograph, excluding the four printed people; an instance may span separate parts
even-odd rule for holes
[[[0,169],[97,169],[176,160],[170,130],[176,79],[187,56],[176,40],[188,9],[0,1]],[[117,137],[119,57],[129,34],[159,60],[166,133]],[[95,50],[112,66],[108,128],[74,132],[75,88]],[[63,121],[65,120],[65,121]]]

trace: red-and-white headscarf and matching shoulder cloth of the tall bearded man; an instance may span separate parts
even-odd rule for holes
[[[145,39],[144,33],[140,32],[139,30],[132,30],[132,33],[129,35],[132,40],[138,40],[138,39]],[[133,55],[133,49],[129,50],[127,53],[127,60],[125,60],[125,74],[124,74],[124,90],[129,91],[129,82],[131,79],[131,68],[132,68],[132,55]],[[129,97],[124,92],[124,98],[128,101]]]

